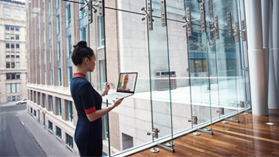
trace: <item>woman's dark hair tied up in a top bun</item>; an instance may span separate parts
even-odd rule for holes
[[[75,65],[82,64],[83,58],[89,58],[94,55],[93,49],[87,47],[86,41],[80,41],[77,45],[74,45],[74,51],[71,52],[71,60]]]

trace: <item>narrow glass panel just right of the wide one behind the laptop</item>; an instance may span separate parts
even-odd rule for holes
[[[161,14],[161,1],[152,1],[153,15]],[[153,17],[153,30],[148,32],[149,73],[153,129],[158,129],[158,138],[172,138],[172,104],[170,88],[174,75],[170,73],[168,34],[161,27],[161,18]],[[159,75],[158,75],[159,74]],[[157,139],[154,138],[154,141]]]

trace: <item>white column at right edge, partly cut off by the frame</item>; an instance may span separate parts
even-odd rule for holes
[[[279,1],[273,1],[272,7],[272,47],[270,49],[269,108],[279,108]]]

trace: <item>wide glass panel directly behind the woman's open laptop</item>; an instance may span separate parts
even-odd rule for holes
[[[138,72],[135,95],[124,99],[118,110],[109,112],[109,119],[103,118],[103,145],[104,148],[110,147],[110,152],[109,149],[103,149],[103,152],[113,155],[153,140],[152,136],[146,135],[152,132],[148,44],[146,21],[141,21],[141,14],[108,8],[105,14],[105,18],[96,16],[96,21],[90,25],[90,46],[96,52],[96,69],[91,75],[93,87],[100,91],[103,83],[108,81],[111,83],[110,92],[113,93],[118,86],[120,72]],[[115,15],[120,20],[116,21]],[[104,23],[107,27],[104,27]],[[110,130],[109,141],[106,138],[107,126]]]

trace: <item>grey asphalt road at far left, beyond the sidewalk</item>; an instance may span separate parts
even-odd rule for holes
[[[46,156],[16,112],[26,104],[0,105],[0,156]]]

